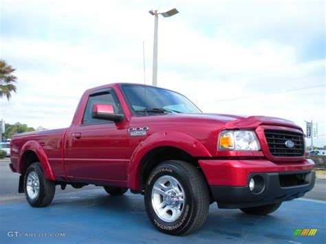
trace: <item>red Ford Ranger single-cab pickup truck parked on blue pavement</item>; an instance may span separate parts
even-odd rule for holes
[[[315,182],[293,122],[202,113],[180,93],[127,83],[85,91],[69,128],[14,135],[10,150],[31,206],[49,205],[57,185],[130,189],[155,228],[175,235],[200,228],[215,201],[265,215]]]

